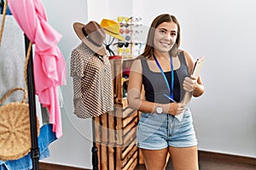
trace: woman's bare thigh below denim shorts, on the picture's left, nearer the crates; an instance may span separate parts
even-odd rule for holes
[[[163,150],[145,150],[143,152],[144,162],[147,170],[165,170],[168,148]]]

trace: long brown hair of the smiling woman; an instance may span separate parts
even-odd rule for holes
[[[148,31],[148,37],[147,37],[147,42],[146,42],[144,52],[138,58],[143,58],[143,57],[150,58],[153,55],[153,53],[154,53],[154,31],[157,28],[157,26],[159,26],[163,22],[174,22],[175,24],[177,24],[177,39],[176,39],[176,42],[174,43],[172,49],[169,51],[169,54],[171,54],[173,57],[177,56],[178,48],[179,48],[180,41],[181,41],[180,26],[178,24],[178,21],[177,21],[176,17],[171,14],[160,14],[153,20],[153,22],[149,28],[149,31]]]

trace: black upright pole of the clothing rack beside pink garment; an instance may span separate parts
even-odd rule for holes
[[[25,37],[25,48],[26,53],[28,51],[30,40]],[[38,148],[38,132],[37,132],[37,115],[36,115],[36,104],[35,104],[35,86],[34,86],[34,74],[33,74],[33,59],[32,50],[27,64],[27,91],[29,101],[29,116],[30,116],[30,129],[31,129],[31,158],[32,158],[32,169],[39,170],[39,148]]]

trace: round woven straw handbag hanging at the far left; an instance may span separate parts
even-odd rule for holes
[[[26,89],[10,89],[0,100],[0,105],[16,90],[22,90],[24,92],[23,99],[20,102],[11,102],[0,107],[0,159],[3,161],[16,160],[26,156],[32,147],[29,105],[26,103]],[[39,134],[38,119],[37,125]]]

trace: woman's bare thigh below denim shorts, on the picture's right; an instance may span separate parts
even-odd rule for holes
[[[175,170],[198,170],[197,146],[187,148],[169,146],[169,152]]]

